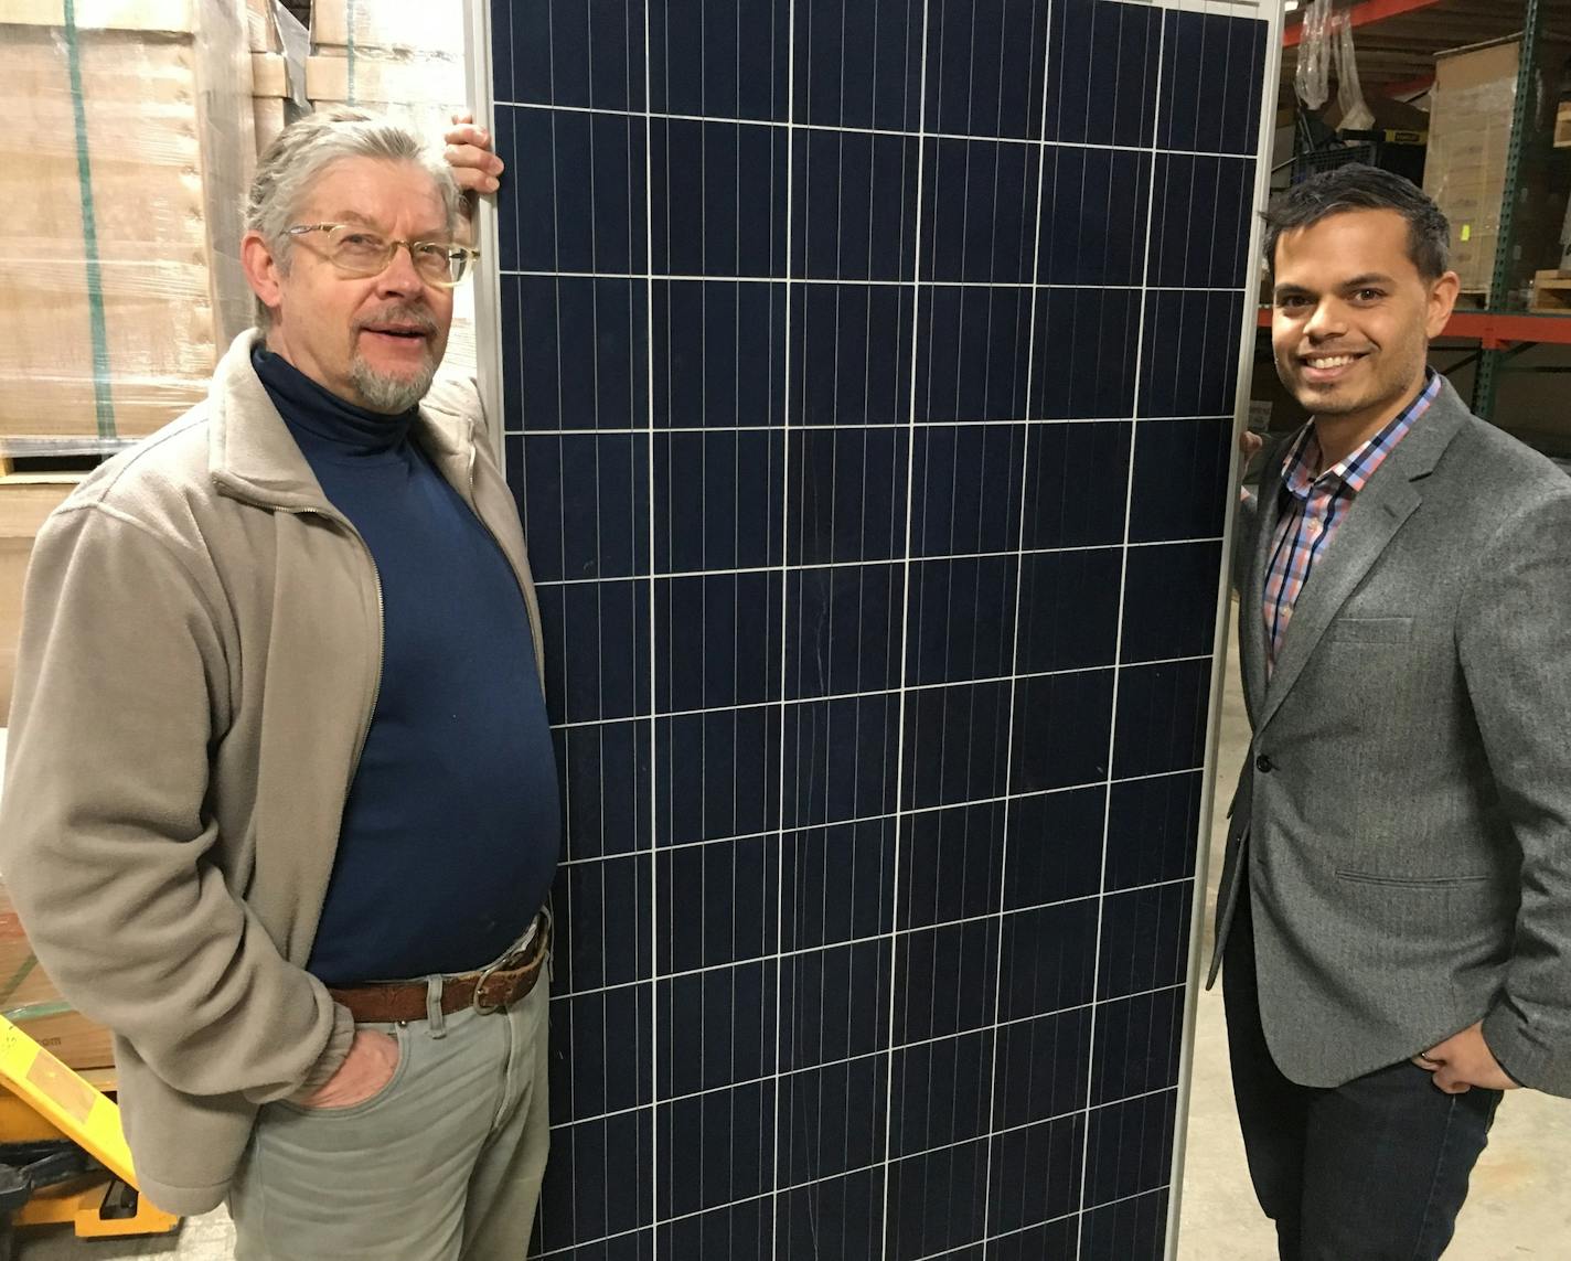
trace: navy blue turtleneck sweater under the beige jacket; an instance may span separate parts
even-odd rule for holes
[[[253,355],[382,583],[382,689],[306,967],[328,985],[467,972],[545,901],[561,809],[518,579],[412,435]]]

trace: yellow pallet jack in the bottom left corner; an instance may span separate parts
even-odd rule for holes
[[[80,1237],[179,1225],[137,1192],[113,1071],[79,1074],[0,1016],[0,1261],[11,1228],[69,1222]]]

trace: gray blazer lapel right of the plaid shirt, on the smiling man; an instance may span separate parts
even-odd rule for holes
[[[1456,391],[1448,382],[1444,383],[1430,410],[1414,422],[1408,437],[1392,449],[1386,463],[1354,498],[1331,548],[1315,564],[1309,584],[1293,608],[1282,653],[1265,689],[1265,704],[1255,722],[1257,732],[1282,707],[1284,697],[1293,689],[1337,611],[1357,590],[1359,583],[1397,537],[1397,531],[1423,503],[1423,495],[1414,484],[1434,471],[1434,465],[1467,415]],[[1255,578],[1263,589],[1263,567]]]

